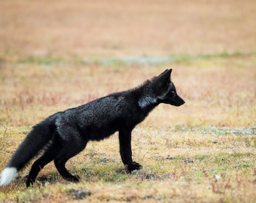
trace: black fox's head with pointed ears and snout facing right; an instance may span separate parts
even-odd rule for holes
[[[170,79],[171,73],[172,69],[166,69],[166,71],[154,78],[157,83],[157,102],[178,107],[185,102],[176,92],[175,86]]]

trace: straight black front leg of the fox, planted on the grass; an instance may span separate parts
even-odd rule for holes
[[[128,171],[139,170],[142,168],[137,162],[133,162],[132,158],[132,146],[131,146],[131,136],[132,131],[122,129],[119,131],[119,143],[120,143],[120,156],[123,164],[126,166]]]

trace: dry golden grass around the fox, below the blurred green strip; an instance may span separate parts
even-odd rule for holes
[[[134,130],[133,158],[144,165],[141,171],[126,174],[117,135],[113,135],[90,142],[68,162],[72,173],[81,176],[81,183],[62,180],[51,163],[41,171],[33,189],[25,189],[22,177],[2,187],[2,201],[253,202],[253,68],[226,64],[236,64],[240,58],[211,60],[217,67],[196,68],[197,60],[175,65],[172,77],[187,103],[180,108],[160,105]],[[1,76],[1,168],[31,126],[44,117],[136,86],[163,68],[53,65],[47,69],[29,62],[5,63]],[[29,167],[20,175],[28,171]]]

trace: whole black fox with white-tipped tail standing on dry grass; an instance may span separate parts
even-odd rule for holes
[[[184,100],[178,96],[170,80],[172,69],[146,80],[141,86],[115,92],[77,108],[60,111],[38,123],[20,144],[2,171],[0,186],[11,183],[17,172],[44,150],[29,172],[26,186],[35,182],[44,165],[54,160],[59,174],[66,180],[78,182],[79,177],[69,173],[66,162],[84,150],[88,141],[100,141],[119,132],[120,156],[128,171],[142,168],[133,162],[131,134],[134,127],[145,120],[149,112],[160,103],[180,106]]]

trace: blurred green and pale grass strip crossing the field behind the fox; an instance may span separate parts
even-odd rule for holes
[[[256,52],[220,52],[220,53],[173,53],[169,56],[123,56],[123,57],[100,57],[94,56],[90,58],[81,58],[74,56],[69,59],[53,56],[26,56],[17,59],[20,64],[36,64],[36,65],[101,65],[109,66],[133,66],[133,65],[168,65],[183,64],[192,65],[201,62],[214,62],[219,59],[244,59],[245,57],[256,56]],[[5,61],[5,57],[2,57]]]

